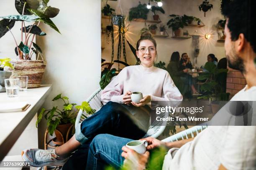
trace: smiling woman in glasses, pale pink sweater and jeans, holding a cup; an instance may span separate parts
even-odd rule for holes
[[[156,41],[150,33],[141,35],[136,45],[141,65],[125,67],[102,91],[105,104],[76,127],[75,135],[64,145],[51,150],[23,150],[22,158],[31,166],[62,165],[81,145],[90,145],[98,134],[111,134],[137,140],[146,134],[151,101],[177,101],[182,95],[169,73],[154,67]],[[131,101],[132,92],[142,92],[140,103]],[[103,154],[104,155],[104,154]],[[88,159],[90,156],[88,156]],[[83,158],[83,163],[87,162]],[[97,164],[97,159],[96,159]],[[88,161],[87,167],[95,166]]]

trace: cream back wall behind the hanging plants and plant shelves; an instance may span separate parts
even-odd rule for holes
[[[148,0],[140,0],[141,3],[148,3]],[[220,13],[220,0],[210,0],[210,3],[213,5],[213,9],[206,13],[206,17],[204,17],[204,13],[199,11],[198,6],[202,3],[202,0],[163,0],[163,9],[165,10],[165,14],[160,12],[156,12],[164,24],[171,19],[169,15],[192,15],[197,18],[200,18],[202,22],[205,24],[205,27],[202,28],[194,28],[194,27],[185,27],[184,30],[188,30],[189,34],[193,34],[195,30],[200,35],[205,35],[205,33],[212,33],[212,37],[210,40],[206,40],[204,37],[200,37],[200,54],[197,58],[197,64],[195,64],[195,58],[192,56],[192,38],[190,39],[174,39],[172,38],[172,29],[167,29],[169,37],[155,37],[157,42],[157,52],[158,52],[158,62],[164,61],[167,64],[169,63],[172,52],[179,51],[180,54],[183,52],[187,52],[188,55],[192,58],[192,64],[197,66],[204,65],[207,62],[207,55],[209,53],[215,54],[215,56],[220,59],[225,57],[224,51],[224,43],[217,42],[218,34],[217,30],[214,27],[218,20],[222,19],[223,16]],[[113,9],[116,9],[116,5],[118,4],[115,1],[108,1],[108,4]],[[121,7],[123,9],[124,15],[128,16],[129,9],[131,7],[135,7],[138,5],[138,0],[121,0]],[[102,8],[105,6],[105,0],[102,2]],[[156,3],[151,2],[151,5],[157,6]],[[118,9],[118,13],[120,13],[120,8]],[[148,13],[148,20],[153,20],[152,12]],[[103,27],[108,25],[110,22],[108,19],[102,19]],[[150,24],[150,23],[148,23]],[[133,47],[136,47],[136,42],[139,39],[139,30],[144,27],[144,23],[131,21],[129,31],[126,33],[127,39],[131,42]],[[166,26],[166,28],[168,28]],[[157,30],[157,34],[160,34],[159,30]],[[117,42],[117,38],[115,39]],[[106,42],[106,35],[102,35],[102,46],[105,49],[102,51],[102,58],[107,61],[111,61],[111,41],[110,44]],[[115,44],[115,59],[116,60],[116,52],[117,52],[117,43]],[[126,54],[128,64],[134,65],[136,63],[135,57],[132,54],[130,48],[126,44]],[[116,65],[114,65],[116,67]]]

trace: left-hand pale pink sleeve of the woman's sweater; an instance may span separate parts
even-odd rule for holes
[[[125,76],[125,69],[123,69],[103,90],[101,94],[101,101],[104,105],[109,102],[118,102],[123,104],[123,76]]]

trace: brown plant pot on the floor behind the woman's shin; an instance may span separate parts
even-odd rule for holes
[[[69,128],[72,126],[72,123],[64,124],[64,125],[58,125],[56,127],[56,130],[54,130],[54,133],[56,135],[56,140],[54,141],[57,145],[58,143],[61,143],[64,140],[64,143],[67,142],[67,132]]]

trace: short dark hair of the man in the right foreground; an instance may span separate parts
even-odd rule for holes
[[[256,0],[230,0],[221,11],[228,18],[231,40],[236,41],[239,34],[243,33],[254,52],[256,52],[255,2]]]

